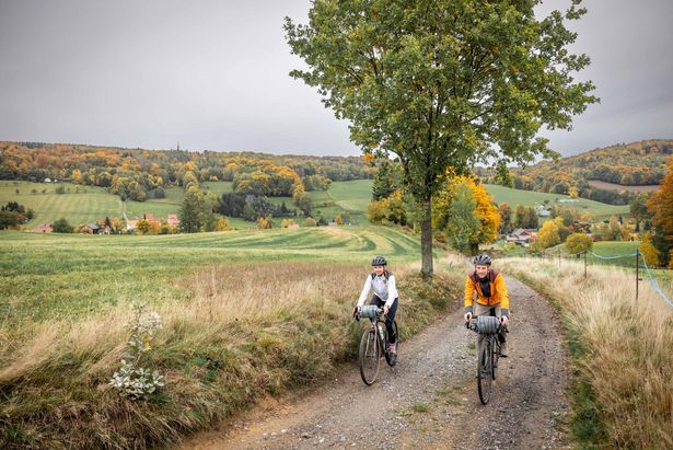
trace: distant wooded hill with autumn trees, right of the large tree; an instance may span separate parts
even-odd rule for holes
[[[655,186],[663,180],[672,155],[673,139],[619,143],[512,170],[510,187],[626,205],[638,192],[653,189],[634,186]],[[486,177],[496,183],[492,175]]]

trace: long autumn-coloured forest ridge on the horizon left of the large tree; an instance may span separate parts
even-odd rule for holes
[[[242,194],[292,196],[326,189],[333,181],[372,177],[358,157],[274,155],[254,152],[142,150],[95,146],[0,142],[0,180],[68,180],[123,198],[161,198],[164,187],[233,182]]]

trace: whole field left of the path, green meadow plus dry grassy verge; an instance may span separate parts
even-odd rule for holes
[[[403,336],[456,304],[464,274],[422,282],[419,253],[417,238],[373,226],[0,232],[0,448],[166,445],[264,395],[324,381],[353,358],[363,325],[350,311],[373,255],[399,279]],[[165,386],[132,402],[107,383],[136,302],[162,319],[142,367]]]

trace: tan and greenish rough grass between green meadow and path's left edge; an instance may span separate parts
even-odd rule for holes
[[[445,274],[421,289],[411,269],[394,269],[404,296],[403,334],[457,296],[449,293]],[[120,399],[106,385],[119,367],[130,299],[104,316],[12,331],[22,341],[0,336],[7,344],[0,447],[165,445],[259,395],[324,379],[357,347],[362,328],[350,311],[368,270],[364,264],[218,265],[185,274],[178,282],[187,297],[159,304],[132,299],[150,300],[164,324],[148,364],[165,374],[166,385],[148,402]]]

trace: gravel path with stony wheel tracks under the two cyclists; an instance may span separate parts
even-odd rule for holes
[[[567,365],[558,321],[550,319],[556,314],[535,291],[506,278],[510,357],[500,361],[487,406],[477,396],[475,335],[463,326],[461,309],[401,343],[397,366],[383,361],[371,386],[356,365],[347,365],[324,386],[267,400],[181,448],[567,447],[559,431],[567,414]]]

